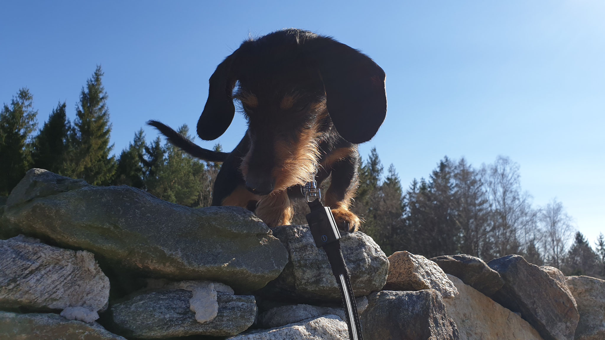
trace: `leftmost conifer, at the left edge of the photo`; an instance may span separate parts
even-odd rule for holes
[[[0,113],[0,195],[8,195],[31,166],[31,133],[38,123],[33,96],[21,88]]]

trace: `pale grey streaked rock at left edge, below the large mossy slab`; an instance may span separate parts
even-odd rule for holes
[[[83,307],[96,315],[106,308],[109,295],[110,281],[92,253],[22,235],[0,240],[0,307],[41,312]]]

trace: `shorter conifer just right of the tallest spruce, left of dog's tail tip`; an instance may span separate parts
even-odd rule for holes
[[[117,161],[115,185],[128,185],[134,188],[145,187],[145,169],[143,156],[145,154],[145,134],[143,129],[135,132],[134,140],[128,148],[123,149]]]

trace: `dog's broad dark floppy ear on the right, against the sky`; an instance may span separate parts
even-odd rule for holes
[[[312,46],[310,57],[321,73],[336,131],[353,144],[367,142],[387,115],[384,71],[370,57],[331,38],[306,44]]]

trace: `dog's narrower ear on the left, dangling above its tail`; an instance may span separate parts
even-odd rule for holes
[[[227,131],[235,115],[232,92],[237,79],[232,72],[232,64],[236,52],[218,64],[210,77],[208,100],[197,121],[197,136],[203,140],[220,137]]]

